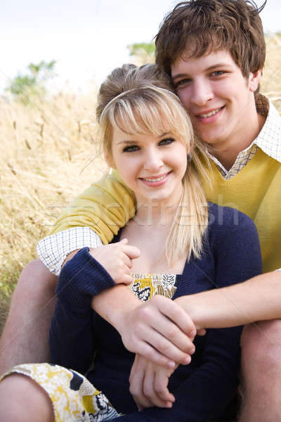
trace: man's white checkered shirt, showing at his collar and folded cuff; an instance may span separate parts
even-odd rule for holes
[[[266,122],[251,145],[237,155],[235,163],[229,171],[210,154],[211,159],[214,160],[218,170],[225,179],[231,179],[231,177],[240,172],[247,165],[247,162],[254,157],[258,148],[261,148],[264,153],[281,162],[281,117],[273,104],[261,94],[257,98],[256,109],[259,114],[266,117]],[[53,274],[59,275],[60,268],[70,252],[84,248],[84,246],[98,248],[101,245],[100,238],[89,227],[73,227],[41,240],[37,245],[37,253],[46,267]]]

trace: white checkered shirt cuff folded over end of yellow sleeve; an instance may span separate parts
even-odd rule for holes
[[[72,227],[39,241],[37,253],[48,270],[59,276],[63,262],[70,252],[85,246],[99,248],[102,245],[98,235],[89,227]]]

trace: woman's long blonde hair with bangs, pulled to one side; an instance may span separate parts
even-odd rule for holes
[[[183,177],[183,194],[166,239],[166,259],[200,257],[207,230],[208,211],[199,173],[207,177],[204,147],[195,138],[190,118],[171,91],[169,79],[157,65],[115,69],[100,87],[97,117],[105,154],[112,153],[112,133],[171,133],[184,143],[190,157]]]

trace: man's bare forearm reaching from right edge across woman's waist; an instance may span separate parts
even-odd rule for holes
[[[234,286],[177,298],[197,328],[226,328],[281,318],[281,271]]]

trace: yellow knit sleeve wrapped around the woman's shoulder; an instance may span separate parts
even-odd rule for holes
[[[135,214],[136,198],[114,171],[77,196],[55,222],[51,234],[88,226],[106,244]]]

